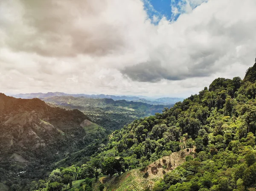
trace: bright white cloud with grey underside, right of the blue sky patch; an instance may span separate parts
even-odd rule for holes
[[[202,2],[191,1],[189,5],[196,6]],[[192,12],[180,15],[175,22],[162,19],[155,26],[154,42],[157,43],[151,43],[155,46],[149,49],[148,56],[149,60],[159,61],[136,63],[122,69],[122,74],[141,82],[211,76],[225,72],[234,60],[241,62],[238,57],[247,67],[252,63],[249,59],[256,50],[253,43],[256,36],[252,32],[256,30],[253,24],[256,15],[249,16],[246,9],[252,11],[256,3],[247,0],[242,8],[238,1],[233,5],[230,3],[209,1]],[[239,17],[236,16],[238,12]],[[247,53],[237,53],[237,47],[241,46],[249,48]]]

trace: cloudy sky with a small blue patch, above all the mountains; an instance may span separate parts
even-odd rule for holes
[[[256,57],[256,0],[1,0],[0,92],[188,97]]]

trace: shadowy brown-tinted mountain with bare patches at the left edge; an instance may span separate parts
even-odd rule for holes
[[[106,130],[79,110],[50,107],[44,101],[0,93],[0,181],[44,177],[54,162],[79,151]],[[93,154],[90,148],[87,154]]]

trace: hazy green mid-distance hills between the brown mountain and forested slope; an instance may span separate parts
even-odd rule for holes
[[[140,117],[161,113],[172,105],[150,105],[126,100],[91,99],[86,97],[56,96],[41,98],[49,104],[68,109],[79,109],[95,123],[116,130]]]

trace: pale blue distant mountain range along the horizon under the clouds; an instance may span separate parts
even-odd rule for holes
[[[160,98],[151,98],[145,96],[115,96],[115,95],[105,95],[105,94],[66,94],[63,92],[48,92],[48,93],[30,93],[30,94],[17,94],[12,95],[12,97],[23,98],[23,99],[32,99],[32,98],[46,98],[46,97],[55,97],[55,96],[73,96],[73,97],[87,97],[92,99],[112,99],[116,100],[126,100],[134,102],[148,103],[151,105],[174,105],[179,101],[183,101],[184,98],[181,97],[160,97]]]

